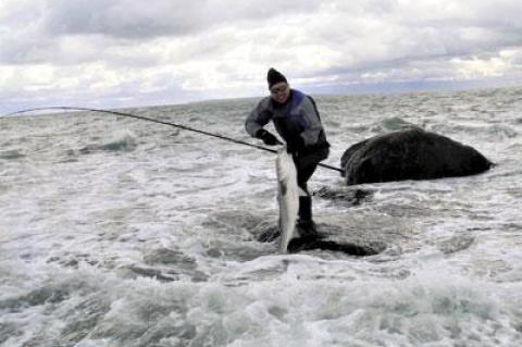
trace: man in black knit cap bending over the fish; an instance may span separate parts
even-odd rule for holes
[[[278,139],[263,126],[274,122],[275,129],[286,142],[297,170],[299,193],[300,236],[319,236],[312,220],[312,197],[307,188],[320,161],[330,153],[330,144],[315,106],[315,101],[299,90],[291,89],[286,77],[275,69],[268,73],[270,97],[263,98],[247,117],[245,127],[252,137],[268,146],[281,145]]]

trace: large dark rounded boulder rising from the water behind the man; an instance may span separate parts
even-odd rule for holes
[[[468,176],[492,166],[472,147],[420,128],[394,132],[349,147],[340,165],[348,185]]]

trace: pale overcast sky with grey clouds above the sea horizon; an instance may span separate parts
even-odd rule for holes
[[[517,86],[521,0],[0,0],[0,112]]]

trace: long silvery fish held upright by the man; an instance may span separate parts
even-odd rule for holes
[[[297,170],[291,154],[286,151],[286,147],[277,150],[275,171],[277,174],[277,202],[279,205],[279,251],[286,253],[288,244],[296,230],[297,214],[299,212]]]

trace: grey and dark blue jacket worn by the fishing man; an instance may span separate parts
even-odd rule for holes
[[[250,136],[257,133],[270,121],[288,146],[299,148],[307,153],[330,147],[315,103],[312,98],[299,90],[291,89],[289,101],[285,104],[275,103],[272,98],[262,99],[245,122]]]

